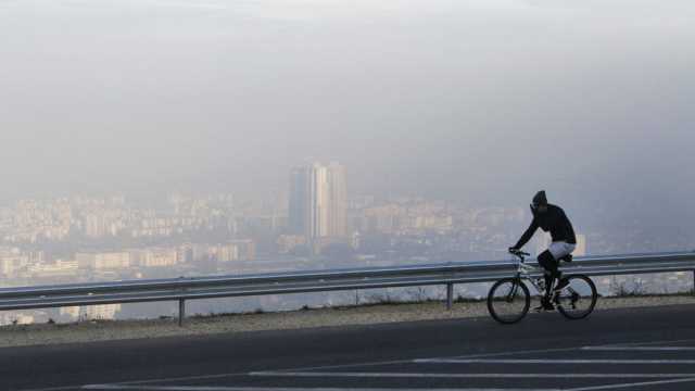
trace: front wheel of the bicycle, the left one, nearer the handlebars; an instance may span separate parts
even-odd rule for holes
[[[519,278],[503,278],[488,293],[488,311],[501,324],[510,325],[521,320],[530,305],[529,288]]]

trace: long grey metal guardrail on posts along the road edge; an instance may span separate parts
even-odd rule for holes
[[[468,262],[3,288],[0,311],[178,301],[180,325],[187,300],[437,285],[446,286],[451,308],[455,283],[495,281],[514,275],[517,265],[516,261]],[[561,269],[589,276],[695,270],[695,252],[577,257]]]

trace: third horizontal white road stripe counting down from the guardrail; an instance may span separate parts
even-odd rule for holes
[[[307,377],[307,378],[443,378],[443,379],[662,379],[690,378],[695,374],[437,374],[437,373],[290,373],[258,371],[250,373],[258,377]]]

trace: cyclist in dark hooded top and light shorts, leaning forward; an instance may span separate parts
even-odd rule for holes
[[[553,242],[548,249],[539,254],[539,264],[545,269],[545,287],[546,295],[543,298],[542,305],[539,310],[555,310],[549,302],[549,289],[555,279],[558,279],[555,290],[561,290],[568,285],[567,279],[563,278],[558,270],[559,261],[571,260],[571,253],[577,247],[577,238],[572,224],[567,218],[565,211],[557,205],[547,203],[545,191],[541,190],[533,197],[531,203],[531,213],[533,220],[529,228],[523,232],[519,241],[509,248],[509,252],[516,253],[533,237],[536,229],[551,231]]]

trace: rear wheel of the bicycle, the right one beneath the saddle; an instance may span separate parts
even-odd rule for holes
[[[557,310],[568,319],[582,319],[596,306],[598,293],[591,278],[583,275],[567,277],[569,283],[556,293]]]

